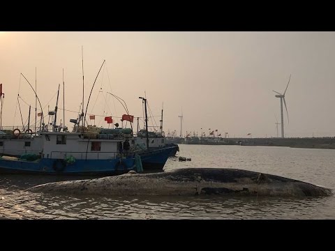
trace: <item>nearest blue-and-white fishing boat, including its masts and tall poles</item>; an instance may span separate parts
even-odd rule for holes
[[[103,61],[103,64],[105,61]],[[101,65],[101,68],[103,67]],[[101,68],[98,74],[101,71]],[[22,75],[24,77],[24,75]],[[96,76],[96,78],[98,75]],[[29,83],[28,79],[24,77]],[[95,84],[96,80],[94,81]],[[94,84],[91,91],[93,90]],[[29,83],[31,86],[31,84]],[[84,86],[84,77],[83,77]],[[2,86],[1,86],[2,87]],[[37,93],[31,86],[36,99],[40,104]],[[2,91],[2,89],[1,89]],[[91,94],[90,94],[91,96]],[[37,132],[24,130],[22,136],[17,128],[13,135],[1,134],[0,146],[0,172],[30,173],[30,174],[98,174],[114,175],[124,174],[130,170],[142,172],[142,162],[136,151],[129,151],[126,155],[120,151],[119,135],[108,133],[89,133],[84,131],[84,121],[87,114],[84,113],[84,93],[82,102],[82,114],[78,119],[70,119],[75,123],[76,132],[68,132],[65,126],[57,125],[57,104],[54,111],[49,111],[49,121],[44,123],[43,109],[41,110],[40,129]],[[87,102],[87,107],[89,100]],[[30,118],[30,107],[29,107]],[[80,121],[82,126],[80,128]],[[81,129],[81,132],[79,131]],[[63,132],[61,132],[63,130]],[[120,133],[119,133],[120,134]],[[121,133],[124,135],[124,133]],[[128,136],[123,136],[125,138]],[[14,139],[14,140],[12,140]],[[34,149],[31,149],[33,146]],[[23,150],[22,150],[23,149]],[[23,152],[24,151],[24,152]],[[22,153],[24,153],[22,155]],[[13,157],[8,155],[16,155]]]

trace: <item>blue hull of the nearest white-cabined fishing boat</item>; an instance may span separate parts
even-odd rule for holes
[[[0,160],[0,172],[59,175],[117,175],[136,170],[134,158],[113,160],[75,160],[67,163],[64,160],[40,159],[35,162],[24,160]]]

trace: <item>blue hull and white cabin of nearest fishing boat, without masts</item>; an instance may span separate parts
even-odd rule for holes
[[[85,139],[81,132],[40,132],[43,151],[20,158],[2,156],[0,172],[31,174],[124,174],[140,172],[135,152],[124,156],[119,140],[107,137]]]

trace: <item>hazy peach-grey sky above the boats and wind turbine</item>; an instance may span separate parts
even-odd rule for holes
[[[135,130],[137,117],[144,126],[139,97],[146,97],[149,126],[159,130],[163,108],[165,135],[180,135],[182,114],[183,136],[218,130],[229,137],[276,137],[281,109],[273,90],[283,93],[291,75],[285,137],[334,137],[334,45],[334,32],[0,31],[1,124],[27,125],[31,105],[34,125],[35,82],[45,122],[61,84],[57,123],[63,120],[64,69],[65,124],[72,130],[69,120],[82,102],[83,61],[84,111],[96,79],[87,108],[87,121],[96,126],[108,127],[105,116],[121,125],[126,114],[110,92],[126,102]]]

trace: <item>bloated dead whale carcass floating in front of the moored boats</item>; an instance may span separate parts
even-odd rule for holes
[[[329,188],[291,178],[223,168],[186,168],[154,174],[122,174],[91,180],[47,183],[29,190],[96,195],[332,195]]]

